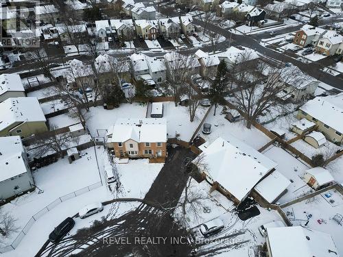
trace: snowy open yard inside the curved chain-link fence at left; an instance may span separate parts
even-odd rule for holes
[[[67,158],[63,158],[47,167],[38,169],[33,173],[37,189],[32,193],[17,197],[1,207],[3,211],[10,212],[17,219],[16,225],[20,230],[31,219],[32,215],[59,197],[100,181],[94,149],[89,148],[82,151],[82,153],[82,158],[75,160],[71,164],[69,164]],[[102,152],[99,151],[98,154],[101,155]],[[39,189],[44,193],[38,193]],[[70,215],[74,214],[75,212],[70,213]],[[16,235],[17,233],[13,233],[5,243],[12,243]]]

